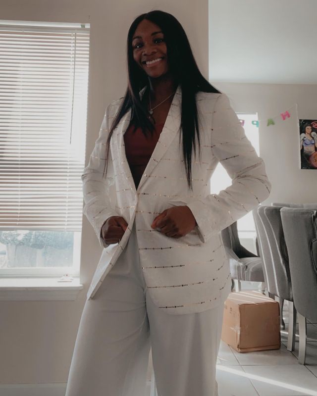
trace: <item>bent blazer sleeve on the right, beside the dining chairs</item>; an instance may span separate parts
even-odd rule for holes
[[[264,161],[246,137],[225,94],[218,96],[213,110],[211,150],[228,172],[232,184],[219,194],[187,204],[204,243],[254,209],[269,196],[271,190]]]

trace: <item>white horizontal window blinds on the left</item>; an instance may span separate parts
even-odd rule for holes
[[[0,229],[81,231],[89,28],[0,23]]]

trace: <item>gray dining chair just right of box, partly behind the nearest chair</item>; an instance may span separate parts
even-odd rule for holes
[[[293,303],[288,253],[285,245],[281,215],[281,206],[261,205],[253,211],[257,233],[260,240],[265,284],[270,297],[279,302],[281,329],[284,300],[288,301],[289,324],[287,349],[294,350],[296,338],[296,309]]]

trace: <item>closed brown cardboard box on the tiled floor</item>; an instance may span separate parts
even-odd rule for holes
[[[221,340],[238,352],[281,347],[279,303],[260,292],[230,293]]]

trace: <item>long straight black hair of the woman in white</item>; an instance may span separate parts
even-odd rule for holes
[[[152,121],[148,118],[146,109],[141,104],[139,95],[139,92],[145,86],[147,87],[146,90],[150,92],[149,77],[133,58],[132,37],[139,23],[144,19],[155,23],[161,29],[166,42],[168,71],[173,76],[174,81],[180,85],[182,91],[180,128],[182,129],[183,158],[188,187],[193,190],[191,161],[193,147],[196,158],[195,128],[200,150],[196,93],[199,91],[220,93],[220,91],[214,88],[199,71],[182,25],[173,15],[167,12],[153,10],[141,14],[129,28],[127,38],[128,87],[109,131],[105,157],[108,158],[110,138],[114,128],[130,108],[130,124],[139,126],[145,136],[149,133],[148,131],[152,134],[155,129]],[[200,151],[199,155],[201,155]]]

